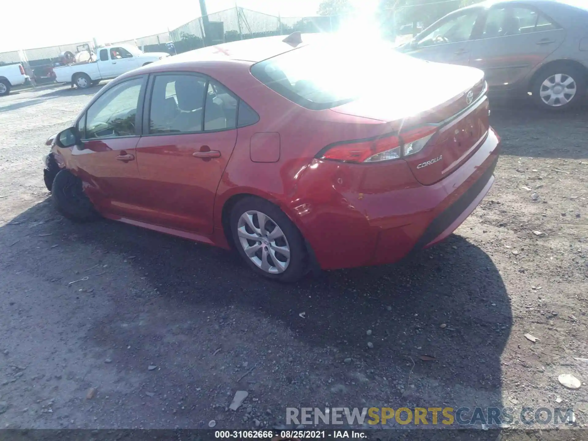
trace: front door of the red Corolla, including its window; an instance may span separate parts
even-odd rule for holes
[[[104,92],[78,122],[82,143],[72,148],[71,168],[98,211],[132,216],[141,188],[136,161],[139,109],[146,76]]]

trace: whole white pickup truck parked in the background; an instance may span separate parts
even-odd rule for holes
[[[79,89],[116,78],[125,72],[168,57],[165,52],[142,52],[132,45],[103,46],[88,61],[54,68],[58,83],[71,83]]]

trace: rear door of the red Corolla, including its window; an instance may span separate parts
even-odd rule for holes
[[[198,74],[160,74],[150,82],[137,145],[147,208],[141,220],[210,234],[216,188],[237,139],[238,99]]]

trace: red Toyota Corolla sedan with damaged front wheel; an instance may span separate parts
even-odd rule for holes
[[[119,76],[49,139],[65,216],[222,248],[285,282],[396,262],[453,232],[494,181],[478,69],[293,34]]]

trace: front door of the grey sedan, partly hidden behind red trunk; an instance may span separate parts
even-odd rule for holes
[[[471,8],[448,15],[417,37],[409,55],[428,61],[468,65],[470,38],[483,8]]]

